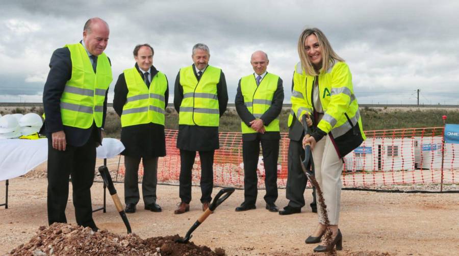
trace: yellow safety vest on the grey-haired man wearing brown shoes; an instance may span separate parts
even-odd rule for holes
[[[183,100],[180,105],[179,124],[218,127],[220,111],[217,84],[220,82],[221,69],[207,66],[198,82],[193,68],[188,66],[180,69]]]

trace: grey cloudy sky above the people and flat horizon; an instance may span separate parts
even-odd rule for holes
[[[420,89],[421,104],[459,105],[457,1],[0,2],[0,102],[41,102],[53,51],[80,41],[85,21],[98,16],[110,25],[109,101],[119,73],[135,63],[136,44],[155,48],[154,65],[173,93],[177,72],[202,42],[225,73],[230,103],[258,49],[284,80],[289,103],[298,36],[317,27],[349,64],[359,103],[416,104]]]

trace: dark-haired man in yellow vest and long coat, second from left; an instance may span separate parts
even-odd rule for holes
[[[142,197],[145,210],[161,212],[156,203],[158,157],[166,156],[164,114],[169,98],[167,78],[153,66],[149,44],[134,48],[134,67],[125,69],[115,85],[113,108],[121,117],[124,155],[124,203],[135,213],[139,202],[138,171],[143,164]]]

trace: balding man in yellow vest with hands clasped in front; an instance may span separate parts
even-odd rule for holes
[[[242,158],[244,162],[244,202],[236,212],[255,209],[257,201],[257,165],[260,142],[265,171],[266,209],[277,212],[277,158],[279,155],[279,114],[284,101],[284,88],[279,76],[268,73],[268,55],[261,50],[250,59],[252,74],[239,80],[236,111],[242,119]]]

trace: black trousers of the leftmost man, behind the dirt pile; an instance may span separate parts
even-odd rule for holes
[[[94,181],[96,142],[94,135],[81,147],[67,145],[65,151],[53,148],[48,138],[48,223],[67,222],[69,176],[77,224],[96,227],[92,219],[91,186]]]

